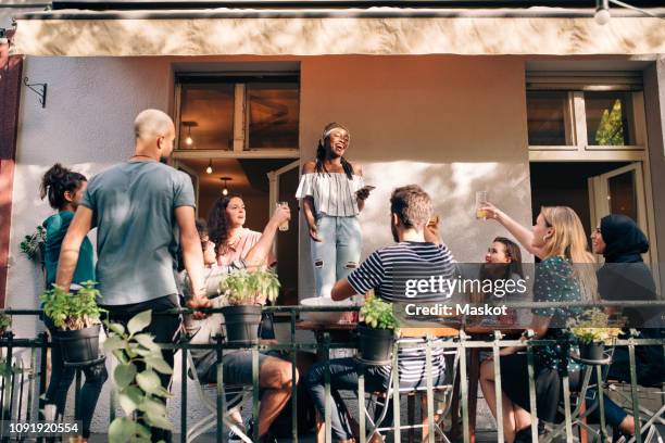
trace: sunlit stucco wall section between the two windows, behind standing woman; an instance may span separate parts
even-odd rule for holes
[[[418,183],[435,201],[459,261],[480,261],[504,231],[474,218],[475,191],[530,223],[524,63],[517,58],[330,56],[301,65],[301,161],[329,122],[351,131],[347,152],[377,187],[361,214],[363,257],[389,244],[388,199]],[[301,225],[300,296],[313,293]]]

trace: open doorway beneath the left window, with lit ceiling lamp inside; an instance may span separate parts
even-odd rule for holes
[[[287,231],[278,231],[275,244],[281,283],[279,305],[298,304],[298,162],[293,159],[177,159],[175,166],[187,173],[195,186],[197,217],[208,219],[215,201],[239,194],[246,206],[244,227],[263,231],[277,201],[291,207]]]

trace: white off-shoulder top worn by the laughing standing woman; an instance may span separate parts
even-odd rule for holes
[[[353,175],[349,179],[343,173],[310,173],[300,177],[297,199],[314,198],[316,215],[352,217],[360,214],[355,192],[365,186],[363,177]]]

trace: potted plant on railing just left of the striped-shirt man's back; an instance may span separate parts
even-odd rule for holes
[[[375,364],[390,362],[394,337],[398,332],[398,320],[392,304],[369,296],[360,311],[360,356],[363,360]]]

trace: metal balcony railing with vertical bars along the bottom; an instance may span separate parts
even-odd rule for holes
[[[570,308],[575,306],[590,306],[590,303],[584,302],[574,302],[574,303],[557,303],[557,302],[543,302],[543,303],[505,303],[506,306],[517,307],[517,308],[534,308],[534,307],[565,307]],[[665,301],[651,301],[651,302],[603,302],[602,304],[593,304],[594,307],[601,306],[622,306],[622,307],[639,307],[639,306],[654,306],[654,307],[664,307]],[[191,380],[188,380],[187,369],[189,367],[187,362],[187,351],[192,349],[211,349],[216,350],[217,353],[217,374],[222,375],[223,363],[222,356],[225,351],[237,350],[237,349],[251,349],[253,355],[253,395],[252,395],[252,418],[253,420],[258,420],[259,416],[259,352],[268,351],[268,350],[285,350],[290,352],[290,360],[292,364],[292,380],[296,378],[296,352],[297,351],[314,351],[322,355],[324,362],[329,362],[329,351],[336,349],[356,349],[357,343],[353,340],[349,342],[334,342],[331,341],[331,336],[329,332],[322,332],[319,336],[322,340],[319,341],[298,341],[296,331],[298,326],[299,315],[303,312],[340,312],[340,311],[352,311],[357,309],[357,307],[353,306],[340,306],[340,307],[304,307],[304,306],[269,306],[265,307],[265,312],[279,313],[280,319],[286,320],[289,325],[289,340],[286,342],[280,342],[277,344],[255,344],[253,346],[238,346],[238,345],[228,345],[224,343],[222,340],[218,343],[210,343],[210,344],[190,344],[188,342],[181,341],[178,343],[162,345],[163,349],[175,349],[183,351],[179,353],[179,358],[181,358],[181,372],[180,372],[180,392],[173,392],[174,395],[180,396],[180,439],[183,442],[186,442],[186,430],[188,429],[188,408],[187,404],[189,402],[187,387],[188,383],[191,383]],[[217,313],[221,309],[200,309],[206,313]],[[40,309],[7,309],[0,311],[10,316],[38,316],[41,314]],[[191,309],[177,309],[175,311],[179,314],[189,314]],[[153,315],[163,315],[163,314],[173,314],[174,312],[168,313],[153,313]],[[665,350],[665,340],[663,339],[641,339],[637,337],[635,330],[632,330],[633,334],[631,334],[628,339],[616,340],[614,346],[626,346],[629,353],[629,362],[630,362],[630,412],[635,417],[640,417],[640,400],[638,395],[639,385],[637,382],[637,371],[636,371],[636,349],[639,346],[645,345],[660,345],[664,346]],[[530,331],[526,331],[525,334],[528,337],[532,337]],[[490,334],[490,338],[485,338],[481,340],[475,339],[474,337],[469,337],[465,332],[465,327],[462,326],[459,330],[456,337],[451,338],[449,340],[435,341],[435,337],[427,337],[427,345],[426,345],[426,362],[428,368],[431,366],[431,355],[432,350],[437,347],[443,347],[449,351],[453,351],[456,354],[456,363],[457,363],[457,375],[464,375],[462,377],[457,377],[457,382],[455,382],[454,388],[457,390],[459,398],[459,410],[461,413],[462,419],[462,436],[464,442],[470,441],[469,435],[469,404],[468,404],[468,380],[466,377],[467,368],[469,365],[467,351],[469,350],[488,350],[492,352],[494,359],[494,380],[495,380],[495,393],[498,397],[501,396],[501,375],[500,375],[500,350],[506,346],[516,346],[524,345],[525,342],[520,342],[519,340],[506,340],[500,331],[495,331]],[[570,342],[569,341],[560,341],[554,342],[552,340],[532,340],[529,339],[526,341],[526,353],[527,353],[527,362],[528,362],[528,384],[529,384],[529,395],[530,395],[530,405],[531,412],[536,410],[536,388],[535,388],[535,378],[534,378],[534,364],[535,364],[535,351],[539,346],[549,346],[552,344],[561,345],[563,350],[561,354],[561,358],[564,360],[568,358],[568,352]],[[1,419],[4,425],[9,421],[17,421],[17,422],[30,422],[36,420],[41,420],[40,413],[38,408],[40,408],[40,398],[41,395],[46,392],[47,385],[47,350],[51,347],[52,343],[48,340],[48,337],[45,333],[38,334],[34,339],[23,339],[16,338],[11,331],[4,333],[2,338],[0,338],[0,352],[4,357],[2,362],[3,370],[0,375],[0,405],[2,406]],[[393,350],[393,367],[397,367],[397,350],[400,346],[410,346],[411,344],[397,342]],[[13,357],[8,358],[8,356],[12,356],[13,353],[17,349],[26,349],[29,350],[27,353],[29,357],[27,360],[25,358],[14,359]],[[108,355],[109,359],[112,362],[111,365],[114,365],[116,362],[112,355]],[[176,358],[178,356],[176,355]],[[565,367],[566,365],[562,365]],[[597,367],[597,376],[599,379],[601,377],[601,369]],[[301,375],[301,380],[302,380]],[[427,389],[424,391],[424,394],[427,396],[427,418],[428,418],[428,427],[429,427],[429,442],[435,442],[435,410],[434,410],[434,391],[432,391],[432,380],[431,380],[431,370],[427,371]],[[561,371],[562,382],[563,382],[563,392],[564,392],[564,423],[563,428],[565,428],[566,441],[573,441],[573,426],[575,421],[575,410],[572,410],[570,405],[570,383],[568,380],[568,374],[565,369]],[[591,371],[588,371],[586,375],[582,387],[587,387],[590,382]],[[218,377],[221,379],[221,377]],[[394,422],[393,430],[394,441],[401,441],[401,431],[402,428],[400,426],[400,396],[399,396],[399,380],[397,377],[393,379],[393,387],[396,389],[392,390],[392,402],[393,402],[393,410],[394,410]],[[325,380],[325,392],[329,402],[329,377],[326,377]],[[77,371],[76,377],[76,389],[80,388],[80,371]],[[116,413],[116,398],[113,394],[114,390],[112,390],[111,394],[111,408],[110,408],[110,420],[112,421],[115,418]],[[292,393],[291,393],[291,407],[292,410],[298,410],[297,402],[297,385],[292,383]],[[364,392],[364,378],[360,376],[359,382],[359,392],[357,400],[359,404],[364,404],[365,398]],[[604,410],[603,410],[603,389],[598,390],[599,401],[598,407],[601,417],[601,438],[604,438]],[[665,401],[665,398],[664,398]],[[216,427],[216,441],[225,442],[227,440],[227,430],[226,426],[224,426],[223,414],[225,410],[225,389],[224,384],[217,385],[216,389],[216,405],[217,405],[217,423]],[[497,441],[503,441],[503,429],[502,429],[502,410],[501,410],[501,402],[498,402],[498,410],[497,410]],[[78,405],[75,406],[75,417],[79,417]],[[360,442],[365,442],[365,432],[371,430],[371,427],[366,426],[366,419],[363,414],[363,408],[359,408],[359,417],[357,421],[361,427],[360,433]],[[299,441],[298,434],[298,414],[291,414],[291,440],[293,442]],[[325,423],[326,423],[326,435],[325,441],[331,441],[330,434],[330,415],[328,412],[324,414]],[[665,423],[662,419],[660,423]],[[413,425],[413,423],[412,423]],[[637,433],[636,439],[638,443],[640,443],[640,420],[636,420]],[[254,422],[255,432],[258,431],[258,422]],[[534,435],[537,435],[537,418],[536,414],[531,414],[531,429]],[[3,430],[7,432],[7,430]],[[561,431],[563,433],[563,431]],[[2,441],[5,441],[4,438],[7,433],[3,434]],[[254,440],[256,435],[253,436]],[[20,436],[16,438],[20,440]]]

